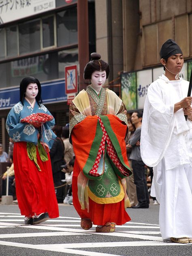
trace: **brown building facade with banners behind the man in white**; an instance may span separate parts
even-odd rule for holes
[[[109,62],[112,89],[128,112],[143,109],[147,88],[163,73],[159,51],[169,38],[192,68],[192,1],[96,0],[96,49]],[[114,86],[115,85],[115,86]]]

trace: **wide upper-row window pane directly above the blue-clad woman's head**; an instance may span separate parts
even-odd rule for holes
[[[19,51],[20,54],[41,50],[40,19],[34,19],[19,24]]]

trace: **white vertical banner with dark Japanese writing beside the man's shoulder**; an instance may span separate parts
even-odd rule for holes
[[[137,72],[137,109],[143,109],[147,89],[152,83],[152,69]]]

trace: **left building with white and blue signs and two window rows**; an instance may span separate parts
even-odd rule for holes
[[[41,82],[43,103],[64,126],[68,123],[65,67],[77,65],[82,73],[89,51],[95,51],[94,1],[0,2],[0,142],[5,149],[6,116],[19,101],[21,79],[33,76]],[[78,78],[81,90],[85,84],[82,76]]]

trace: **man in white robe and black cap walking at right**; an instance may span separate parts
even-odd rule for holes
[[[147,91],[141,157],[154,169],[151,196],[160,203],[162,239],[192,243],[192,97],[189,82],[178,76],[184,62],[179,46],[169,39],[160,57],[165,74]]]

